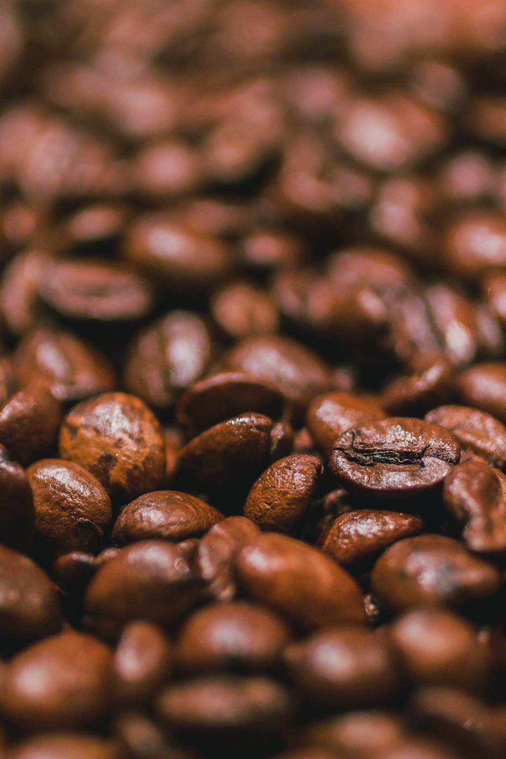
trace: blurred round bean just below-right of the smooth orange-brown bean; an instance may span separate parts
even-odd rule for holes
[[[385,704],[401,679],[385,640],[366,628],[317,632],[286,653],[291,678],[311,701],[332,709]]]

